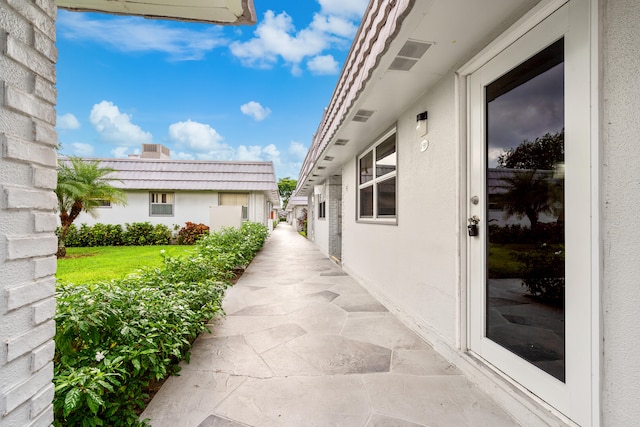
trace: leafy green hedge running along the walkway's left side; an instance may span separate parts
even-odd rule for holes
[[[193,340],[210,332],[206,322],[224,314],[232,268],[248,264],[267,235],[263,225],[246,223],[201,239],[189,255],[162,254],[160,268],[97,284],[58,283],[54,425],[146,425],[138,413],[150,381],[189,360]]]

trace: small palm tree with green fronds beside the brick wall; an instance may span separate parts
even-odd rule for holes
[[[115,188],[109,174],[114,169],[100,167],[99,160],[83,160],[70,157],[58,165],[58,212],[60,213],[60,235],[58,236],[57,257],[67,253],[66,238],[69,227],[81,212],[96,216],[96,208],[104,202],[124,204],[125,194]]]

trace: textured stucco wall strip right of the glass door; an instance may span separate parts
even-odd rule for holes
[[[602,419],[640,420],[640,2],[602,2]]]

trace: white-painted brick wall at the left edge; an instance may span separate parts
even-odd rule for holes
[[[0,0],[0,426],[53,421],[56,6]]]

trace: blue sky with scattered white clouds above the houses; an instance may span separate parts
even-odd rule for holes
[[[273,161],[297,179],[368,0],[256,0],[254,26],[60,10],[61,153]]]

